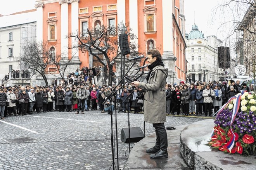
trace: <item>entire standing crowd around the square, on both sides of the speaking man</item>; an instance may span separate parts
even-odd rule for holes
[[[115,98],[109,95],[115,85],[95,85],[92,78],[102,68],[83,67],[80,70],[67,75],[58,84],[57,79],[50,86],[22,87],[2,85],[0,89],[1,119],[8,116],[27,115],[41,112],[74,112],[84,114],[84,111],[99,110],[101,113],[114,111],[114,100],[117,102],[119,112],[131,112],[138,114],[143,111],[144,93],[140,92],[131,84],[117,87]],[[16,76],[16,78],[18,78]],[[227,82],[197,82],[196,84],[166,83],[166,114],[183,116],[212,116],[227,100],[239,93],[240,90],[253,91],[253,86],[248,87],[245,83],[241,86],[240,81]]]

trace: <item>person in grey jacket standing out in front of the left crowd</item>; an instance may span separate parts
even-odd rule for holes
[[[75,114],[79,114],[80,109],[82,114],[84,114],[83,110],[85,108],[85,100],[88,98],[90,93],[85,89],[85,86],[83,84],[80,85],[80,89],[76,92],[76,97],[78,99],[78,108],[77,112]]]

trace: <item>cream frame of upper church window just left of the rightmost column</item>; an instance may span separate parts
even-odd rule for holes
[[[145,34],[156,34],[156,8],[147,7],[143,9],[144,11],[144,33]],[[154,30],[147,31],[147,15],[154,15]]]

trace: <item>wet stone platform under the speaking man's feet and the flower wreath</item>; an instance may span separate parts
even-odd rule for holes
[[[155,145],[156,134],[135,144],[128,159],[130,170],[255,170],[256,156],[241,156],[211,150],[206,145],[213,119],[167,130],[168,158],[152,159],[145,150]],[[184,158],[184,159],[183,159]]]

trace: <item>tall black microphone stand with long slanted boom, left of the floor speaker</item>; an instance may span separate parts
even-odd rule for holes
[[[128,72],[131,70],[131,68],[133,68],[133,66],[135,65],[135,63],[133,63],[133,65],[129,68],[129,70],[127,71],[127,73],[125,75],[123,75],[123,77],[121,78],[121,80],[118,82],[118,84],[116,85],[116,87],[114,87],[114,89],[112,90],[112,92],[109,94],[109,96],[104,100],[104,102],[102,103],[103,105],[107,102],[107,100],[112,101],[112,96],[116,93],[116,88],[118,87],[119,84],[121,84],[121,82],[123,81],[123,79],[125,78],[125,76],[128,74]],[[115,107],[116,107],[116,100],[115,101]],[[112,110],[112,106],[111,106],[111,110]],[[115,108],[116,110],[116,108]],[[115,111],[116,114],[116,111]],[[117,167],[119,170],[119,160],[118,160],[118,130],[117,130],[117,116],[115,115],[115,129],[116,129],[116,154],[117,154]],[[130,137],[129,137],[130,138]],[[111,112],[111,150],[112,150],[112,163],[113,163],[113,170],[115,168],[114,164],[114,136],[113,136],[113,112]]]

